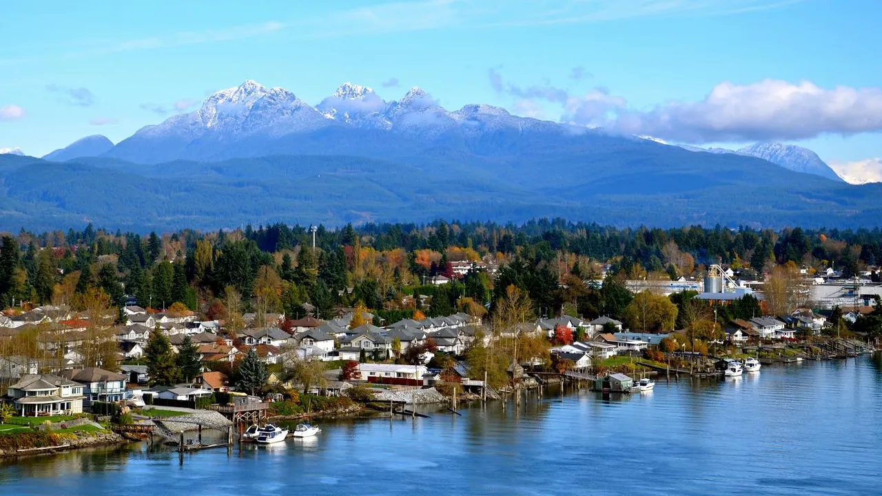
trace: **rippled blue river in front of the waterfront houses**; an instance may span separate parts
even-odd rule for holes
[[[0,462],[4,494],[882,494],[882,357],[559,390],[462,417],[325,422],[313,440],[184,455],[146,443]]]

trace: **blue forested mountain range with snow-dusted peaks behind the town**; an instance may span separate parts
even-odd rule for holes
[[[449,111],[416,87],[384,101],[345,84],[311,106],[246,81],[116,146],[92,136],[44,158],[0,156],[0,228],[882,223],[882,185],[845,184],[802,148],[684,149],[488,105]]]

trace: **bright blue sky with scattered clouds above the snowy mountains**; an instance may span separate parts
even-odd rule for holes
[[[793,143],[882,180],[878,0],[48,0],[0,19],[0,147],[34,156],[245,79],[311,104],[351,81],[702,147]]]

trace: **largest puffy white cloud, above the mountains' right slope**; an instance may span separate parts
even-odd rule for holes
[[[714,86],[702,101],[622,110],[609,127],[686,143],[811,139],[882,131],[882,89],[765,79]]]

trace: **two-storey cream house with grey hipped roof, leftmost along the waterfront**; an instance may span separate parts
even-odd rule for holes
[[[6,394],[22,417],[73,415],[83,413],[83,388],[53,374],[25,374]]]

